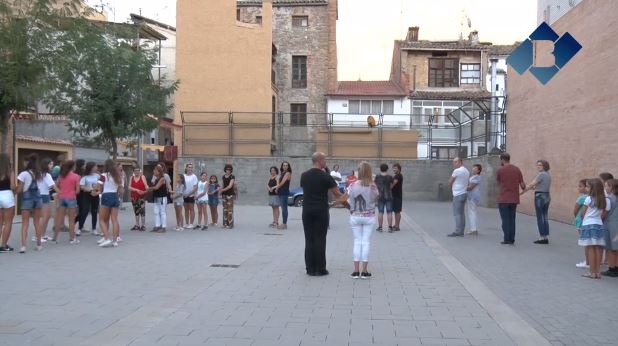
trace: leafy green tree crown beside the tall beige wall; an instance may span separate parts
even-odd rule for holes
[[[55,66],[55,92],[44,102],[70,116],[69,129],[75,135],[109,145],[115,159],[118,140],[159,125],[158,119],[172,108],[167,99],[178,83],[161,85],[153,79],[155,51],[139,45],[135,26],[85,22],[70,35],[62,49],[75,49],[76,54],[65,55],[66,63]]]

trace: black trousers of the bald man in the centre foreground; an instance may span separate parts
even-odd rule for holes
[[[323,210],[303,208],[305,267],[307,273],[326,270],[326,233],[328,232],[328,222],[328,208]]]

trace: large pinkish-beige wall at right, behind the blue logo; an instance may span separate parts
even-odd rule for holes
[[[579,179],[618,174],[618,1],[583,1],[552,27],[583,48],[546,85],[509,73],[507,150],[527,182],[537,159],[549,161],[550,217],[570,221]],[[524,196],[523,211],[534,213],[532,199]]]

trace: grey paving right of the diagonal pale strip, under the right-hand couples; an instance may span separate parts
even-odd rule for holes
[[[583,250],[572,226],[550,222],[550,245],[538,246],[532,243],[538,237],[536,218],[518,214],[516,245],[504,247],[498,244],[502,231],[496,209],[479,208],[480,235],[458,239],[445,236],[454,224],[449,203],[405,202],[404,212],[552,344],[618,340],[618,280],[580,277],[583,270],[575,263]],[[486,316],[474,304],[463,312]]]

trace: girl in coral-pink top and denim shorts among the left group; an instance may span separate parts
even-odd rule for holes
[[[79,181],[81,177],[74,172],[75,161],[68,160],[60,167],[60,177],[58,178],[58,209],[56,209],[54,239],[58,242],[60,227],[64,223],[64,217],[69,216],[69,240],[71,244],[79,244],[75,238],[75,217],[77,216],[77,192],[79,191]],[[68,213],[67,213],[68,212]]]

